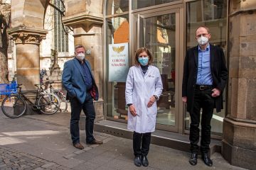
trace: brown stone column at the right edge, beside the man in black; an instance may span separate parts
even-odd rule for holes
[[[223,157],[256,169],[256,1],[230,0],[228,114]]]

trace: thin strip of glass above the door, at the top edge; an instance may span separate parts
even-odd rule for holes
[[[169,3],[172,1],[178,1],[178,0],[133,0],[132,1],[132,9],[137,9],[137,8],[144,8],[148,6],[154,6],[154,5],[159,5],[159,4],[165,4]]]

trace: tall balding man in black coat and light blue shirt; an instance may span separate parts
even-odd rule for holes
[[[201,116],[201,154],[203,162],[213,166],[208,156],[210,145],[210,120],[213,109],[217,112],[223,108],[223,91],[228,79],[228,69],[225,65],[225,56],[220,47],[211,45],[210,31],[205,26],[196,30],[198,45],[186,52],[182,101],[187,103],[187,111],[191,116],[189,140],[191,142],[191,165],[197,164],[199,124]]]

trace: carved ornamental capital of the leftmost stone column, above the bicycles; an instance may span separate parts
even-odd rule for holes
[[[46,35],[35,33],[14,33],[11,34],[16,44],[40,44],[41,40],[46,39]]]

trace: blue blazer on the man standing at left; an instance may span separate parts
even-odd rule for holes
[[[92,98],[95,99],[95,101],[97,101],[99,98],[99,92],[95,83],[95,79],[92,75],[90,63],[85,60],[85,64],[87,64],[87,67],[89,68],[90,74],[92,76],[92,89],[86,89],[85,77],[82,76],[82,68],[76,58],[65,62],[62,75],[63,86],[68,92],[67,96],[70,98],[78,98],[80,103],[85,102],[87,91],[90,91],[91,94],[94,94]],[[94,93],[92,93],[92,90]]]

